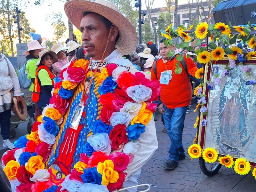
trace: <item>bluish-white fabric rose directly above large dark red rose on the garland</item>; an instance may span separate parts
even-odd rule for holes
[[[113,112],[109,121],[110,126],[112,127],[118,124],[126,125],[126,127],[128,127],[131,122],[131,115],[128,112]]]

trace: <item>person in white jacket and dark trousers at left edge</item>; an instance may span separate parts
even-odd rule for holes
[[[0,53],[0,126],[3,147],[15,148],[9,140],[13,97],[20,101],[20,84],[12,63]]]

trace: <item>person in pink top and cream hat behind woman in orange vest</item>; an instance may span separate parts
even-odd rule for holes
[[[59,76],[62,67],[69,62],[65,54],[65,50],[67,49],[69,47],[64,47],[62,44],[52,45],[51,51],[55,52],[58,56],[58,61],[52,64],[53,73],[56,76]]]

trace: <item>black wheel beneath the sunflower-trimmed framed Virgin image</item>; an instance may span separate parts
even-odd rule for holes
[[[205,175],[210,177],[217,174],[221,167],[221,164],[219,162],[215,161],[214,163],[207,163],[206,161],[204,161],[203,157],[199,157],[199,165],[200,165],[201,171]]]

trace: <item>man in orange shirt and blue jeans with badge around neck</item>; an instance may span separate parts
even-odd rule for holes
[[[171,139],[171,146],[169,150],[169,158],[163,164],[166,169],[174,169],[178,166],[178,161],[185,159],[184,148],[182,145],[182,132],[184,127],[184,120],[187,112],[187,106],[190,105],[192,98],[191,84],[188,73],[195,76],[198,69],[191,58],[184,56],[187,64],[185,71],[181,62],[180,67],[182,72],[175,74],[176,56],[175,52],[171,58],[167,57],[170,50],[175,50],[175,45],[167,47],[164,44],[164,39],[159,42],[159,51],[162,59],[156,61],[156,74],[154,68],[151,71],[151,80],[158,79],[161,85],[160,100],[158,102],[158,110],[163,114],[164,124]]]

